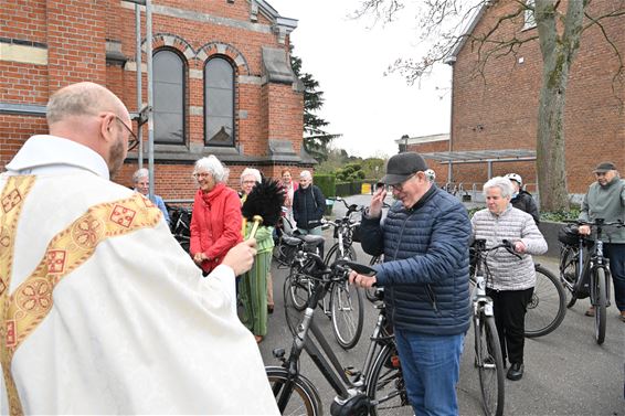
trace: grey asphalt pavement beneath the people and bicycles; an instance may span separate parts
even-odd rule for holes
[[[349,198],[352,203],[367,204],[369,195]],[[335,205],[335,214],[341,214]],[[328,242],[331,236],[328,236]],[[331,243],[329,243],[331,244]],[[328,244],[328,246],[329,246]],[[369,256],[356,244],[358,258],[368,262]],[[558,271],[552,258],[537,262]],[[277,364],[272,350],[290,348],[290,332],[285,323],[283,309],[283,282],[286,270],[273,269],[275,313],[269,316],[269,333],[261,344],[266,364]],[[366,301],[366,324],[363,337],[351,351],[342,351],[333,340],[329,319],[320,313],[316,321],[321,324],[328,341],[345,366],[361,367],[369,345],[377,311]],[[624,370],[625,370],[625,324],[617,318],[614,306],[608,308],[607,335],[603,345],[594,341],[594,321],[584,317],[587,300],[578,303],[566,312],[564,321],[554,332],[543,338],[526,341],[526,374],[519,382],[506,381],[507,415],[625,415]],[[480,415],[479,383],[473,366],[473,331],[467,333],[458,384],[458,401],[462,415]],[[324,414],[329,414],[335,396],[326,380],[303,355],[301,372],[311,378],[324,401]],[[401,414],[401,413],[398,413]],[[406,413],[412,414],[412,412]]]

